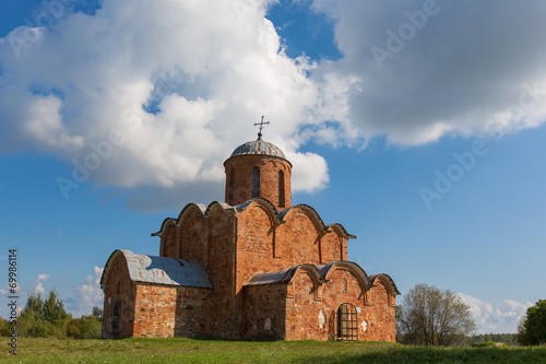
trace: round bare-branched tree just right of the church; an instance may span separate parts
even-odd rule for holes
[[[450,290],[417,284],[396,309],[401,342],[450,345],[466,340],[475,329],[470,307]]]

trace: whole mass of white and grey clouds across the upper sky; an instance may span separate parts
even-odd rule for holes
[[[222,191],[223,161],[261,115],[308,192],[329,180],[301,151],[311,140],[423,144],[546,118],[543,1],[302,2],[333,20],[335,61],[286,56],[273,3],[104,0],[13,30],[0,38],[0,151],[66,161],[64,198],[92,181],[165,209]]]

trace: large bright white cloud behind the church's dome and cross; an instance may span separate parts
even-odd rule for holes
[[[222,163],[256,139],[261,115],[272,121],[264,139],[295,153],[318,91],[307,61],[282,51],[264,17],[269,2],[105,0],[95,15],[70,13],[39,28],[19,58],[8,38],[28,28],[15,30],[0,40],[3,148],[63,158],[75,177],[61,177],[78,185],[182,195],[203,183],[222,190]],[[299,155],[308,157],[320,158]],[[308,171],[311,185],[295,177],[295,188],[323,186],[325,171]]]

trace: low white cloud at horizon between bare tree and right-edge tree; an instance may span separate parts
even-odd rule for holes
[[[471,307],[478,332],[480,333],[517,332],[520,317],[533,305],[531,302],[521,303],[513,300],[505,300],[499,304],[492,305],[464,293],[459,293],[459,295]]]

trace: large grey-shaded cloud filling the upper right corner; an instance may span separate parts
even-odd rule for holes
[[[423,144],[546,119],[546,45],[535,42],[546,34],[543,1],[313,0],[312,7],[334,20],[343,54],[314,71],[336,80],[322,93],[346,101],[337,110],[325,107],[360,137]],[[376,57],[379,48],[384,52]]]

